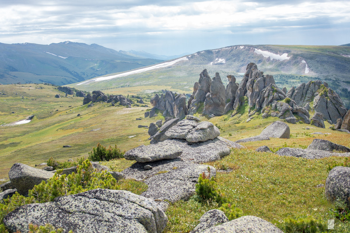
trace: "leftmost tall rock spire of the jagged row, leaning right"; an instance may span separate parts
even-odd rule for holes
[[[191,105],[188,109],[189,115],[195,114],[198,108],[200,107],[200,104],[204,102],[205,97],[207,96],[207,93],[210,92],[211,82],[212,80],[207,72],[207,69],[204,69],[200,74],[198,84],[196,85],[195,83],[195,86],[194,86],[194,99],[192,100]]]

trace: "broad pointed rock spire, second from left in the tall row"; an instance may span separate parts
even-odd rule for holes
[[[216,73],[211,82],[210,92],[205,96],[203,114],[222,116],[225,111],[225,105],[225,86],[221,81],[219,73]]]

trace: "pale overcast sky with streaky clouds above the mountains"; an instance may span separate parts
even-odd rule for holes
[[[350,43],[350,1],[0,0],[0,42],[66,40],[161,55]]]

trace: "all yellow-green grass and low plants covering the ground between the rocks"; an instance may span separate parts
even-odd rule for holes
[[[82,105],[82,97],[68,95],[70,98],[55,98],[57,93],[62,92],[43,84],[3,85],[1,89],[6,95],[0,95],[2,107],[0,124],[20,121],[28,115],[35,115],[29,123],[0,127],[0,178],[5,179],[1,182],[7,181],[10,167],[19,161],[34,167],[51,159],[50,157],[52,161],[57,161],[57,164],[73,159],[76,163],[80,163],[82,170],[89,170],[90,162],[78,158],[88,157],[89,152],[93,151],[92,148],[98,143],[105,147],[116,145],[121,151],[130,150],[141,144],[148,145],[147,129],[137,126],[164,120],[161,114],[151,119],[144,118],[147,107],[126,108],[107,103],[96,103],[92,107],[87,107],[88,104]],[[118,90],[114,91],[111,90],[110,93],[119,94]],[[146,94],[142,94],[142,90],[135,89],[135,92],[140,96],[144,95],[142,97],[145,104],[150,106],[149,98]],[[134,100],[136,103],[136,99]],[[228,117],[231,113],[210,119],[198,113],[195,116],[220,126],[220,136],[231,141],[258,135],[270,123],[280,120],[273,117],[262,119],[260,114],[246,122],[248,106],[243,106],[232,118]],[[313,112],[310,112],[310,115],[312,116]],[[141,120],[136,120],[137,118]],[[164,232],[189,232],[198,224],[200,217],[210,209],[221,209],[230,219],[241,215],[254,215],[270,221],[286,233],[350,232],[349,206],[341,202],[330,203],[325,198],[324,186],[320,185],[325,183],[329,166],[348,164],[344,158],[303,159],[255,151],[262,145],[267,145],[272,151],[286,146],[306,148],[315,138],[349,146],[350,137],[344,132],[328,129],[330,124],[327,122],[325,128],[310,127],[303,123],[287,124],[290,128],[289,139],[271,138],[271,140],[241,143],[246,148],[234,149],[230,155],[221,160],[205,163],[216,168],[216,178],[207,181],[206,177],[201,176],[195,195],[189,200],[170,204],[166,211],[169,221]],[[330,133],[330,135],[312,134],[314,132]],[[63,148],[63,145],[72,147]],[[111,171],[119,172],[133,163],[134,161],[124,158],[100,162],[108,166]],[[79,171],[78,169],[75,176],[79,176]],[[94,173],[91,170],[90,172]],[[124,189],[136,194],[141,194],[147,189],[142,182],[124,179],[117,182],[104,172],[91,175],[91,183],[87,182],[89,183],[87,186],[76,184],[76,188],[72,190],[54,189],[57,186],[54,185],[55,182],[56,184],[70,182],[72,176],[56,175],[47,183],[36,186],[28,197],[15,194],[5,200],[1,204],[1,219],[6,211],[16,206],[35,201],[50,201],[57,195],[68,195],[93,187]],[[104,177],[105,182],[102,184],[96,181],[94,178],[97,176]],[[206,199],[203,190],[199,191],[200,185],[207,188],[206,193],[211,190],[212,197]],[[51,194],[42,195],[46,190],[50,190]],[[218,195],[225,201],[216,201]],[[335,230],[326,229],[328,219],[335,219]],[[40,227],[43,226],[33,226],[32,231],[38,232]],[[5,231],[2,226],[0,230]],[[59,229],[56,231],[59,232]]]

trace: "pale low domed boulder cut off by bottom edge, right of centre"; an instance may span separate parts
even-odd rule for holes
[[[208,228],[201,233],[283,233],[272,223],[255,216],[243,216],[218,226]]]

